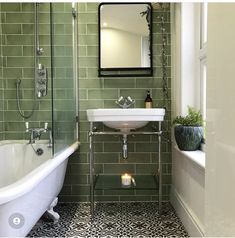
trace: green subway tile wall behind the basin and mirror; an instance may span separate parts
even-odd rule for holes
[[[98,3],[78,4],[78,74],[79,74],[79,118],[80,118],[80,151],[74,153],[68,164],[65,184],[60,200],[65,202],[89,201],[89,161],[88,130],[86,118],[88,108],[116,107],[115,99],[119,96],[131,96],[136,99],[135,107],[144,107],[146,90],[150,89],[154,107],[163,106],[162,69],[161,69],[161,31],[160,19],[166,22],[167,57],[170,62],[170,10],[153,12],[153,77],[99,78],[98,77]],[[170,82],[171,65],[167,65]],[[170,90],[170,85],[169,85]],[[170,102],[167,102],[168,113],[163,125],[165,135],[170,131]],[[98,124],[101,129],[101,124]],[[145,129],[150,129],[147,126]],[[153,136],[135,136],[128,138],[129,156],[122,159],[121,139],[115,136],[95,138],[95,167],[102,174],[121,174],[131,172],[146,174],[156,172],[157,139]],[[163,161],[163,199],[169,199],[171,184],[171,148],[162,144]],[[152,201],[158,198],[153,191],[99,191],[98,201]]]

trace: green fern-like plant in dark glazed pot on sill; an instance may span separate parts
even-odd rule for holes
[[[180,150],[198,150],[203,139],[203,119],[200,111],[188,107],[188,115],[177,116],[175,125],[175,140]]]

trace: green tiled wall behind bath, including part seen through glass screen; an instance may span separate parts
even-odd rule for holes
[[[44,122],[52,126],[50,4],[42,3],[38,7],[39,43],[44,50],[39,63],[48,70],[48,95],[37,100],[36,111],[30,119],[22,119],[17,111],[16,80],[22,80],[21,104],[24,113],[28,114],[34,98],[35,4],[1,3],[0,7],[0,139],[28,139],[25,121],[30,122],[30,127],[42,127]],[[54,3],[52,9],[54,151],[58,152],[74,141],[73,50],[76,49],[73,49],[71,3]]]

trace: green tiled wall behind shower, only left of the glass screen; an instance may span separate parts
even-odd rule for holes
[[[33,106],[34,98],[34,4],[33,3],[1,3],[1,94],[4,104],[4,131],[2,139],[28,139],[25,133],[25,119],[22,119],[16,107],[16,80],[21,79],[21,104],[25,114]],[[49,3],[39,6],[40,44],[45,53],[40,59],[48,69],[50,78],[50,17]],[[30,126],[43,126],[51,122],[51,90],[41,99],[32,118],[28,119]],[[2,118],[0,119],[2,120]],[[1,124],[2,125],[2,124]]]

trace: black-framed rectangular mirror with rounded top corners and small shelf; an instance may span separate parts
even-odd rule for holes
[[[152,76],[150,3],[99,5],[99,76]]]

